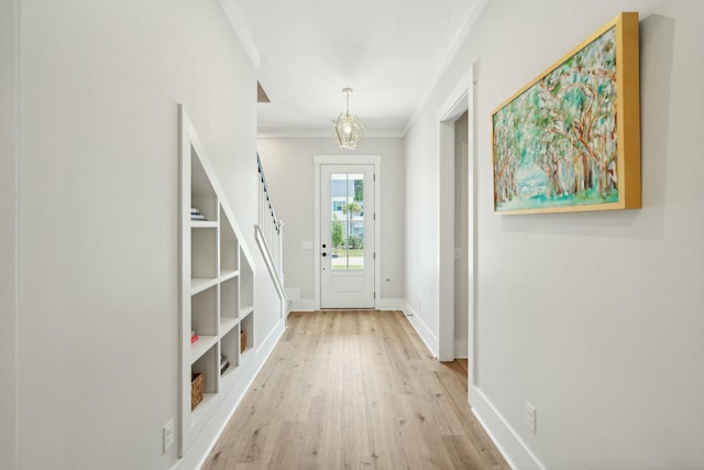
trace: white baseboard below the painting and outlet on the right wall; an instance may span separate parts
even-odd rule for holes
[[[472,386],[470,390],[470,406],[480,424],[492,438],[504,459],[514,470],[546,470],[535,453],[526,446],[516,430],[496,409],[484,393]]]

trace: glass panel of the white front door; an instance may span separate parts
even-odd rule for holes
[[[364,269],[364,175],[330,175],[331,269]]]

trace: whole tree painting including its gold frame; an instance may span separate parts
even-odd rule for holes
[[[494,212],[635,209],[638,13],[620,13],[492,113]]]

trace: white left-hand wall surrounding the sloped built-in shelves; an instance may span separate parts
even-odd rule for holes
[[[162,453],[178,411],[177,103],[261,262],[256,77],[238,44],[215,0],[21,2],[22,469],[177,461]]]

